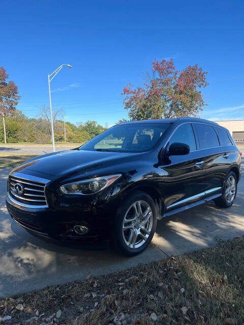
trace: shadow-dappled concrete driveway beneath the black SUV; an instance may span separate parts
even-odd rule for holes
[[[27,233],[5,207],[9,171],[0,170],[0,297],[84,279],[88,272],[96,276],[135,267],[244,235],[244,173],[230,209],[210,202],[165,218],[158,222],[153,244],[146,251],[123,257],[104,247],[67,247]]]

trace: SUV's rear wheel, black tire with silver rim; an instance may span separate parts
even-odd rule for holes
[[[229,189],[229,194],[226,194],[227,190]],[[223,193],[222,196],[215,199],[215,204],[221,208],[229,208],[235,201],[237,192],[237,179],[236,175],[233,172],[229,172],[226,176],[223,185]]]

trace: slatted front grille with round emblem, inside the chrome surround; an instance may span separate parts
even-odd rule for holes
[[[28,175],[26,175],[28,176]],[[35,206],[46,206],[44,193],[46,183],[9,176],[10,195],[20,203]]]

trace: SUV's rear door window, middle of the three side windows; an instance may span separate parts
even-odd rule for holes
[[[214,127],[207,124],[195,124],[200,149],[218,147],[220,145]]]

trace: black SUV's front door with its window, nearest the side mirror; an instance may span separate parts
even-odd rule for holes
[[[184,206],[204,196],[205,169],[204,152],[197,150],[191,123],[178,126],[166,144],[166,151],[174,142],[189,145],[187,155],[169,156],[162,159],[161,168],[165,171],[165,207],[168,210]]]

